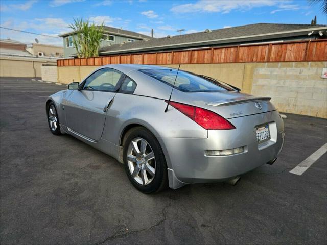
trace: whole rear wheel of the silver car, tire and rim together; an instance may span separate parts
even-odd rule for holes
[[[143,127],[130,130],[124,141],[124,163],[131,183],[144,193],[167,187],[167,164],[154,135]]]

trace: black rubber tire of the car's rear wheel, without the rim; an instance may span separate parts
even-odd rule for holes
[[[146,146],[146,149],[148,149],[147,151],[149,152],[149,150],[150,151],[152,150],[152,152],[154,153],[154,159],[149,160],[146,163],[143,163],[144,165],[147,165],[149,163],[149,164],[152,164],[152,166],[153,166],[153,160],[155,162],[154,163],[155,164],[154,177],[149,175],[148,172],[144,172],[144,173],[146,173],[147,177],[150,177],[152,179],[152,180],[150,180],[150,183],[148,183],[148,184],[140,184],[134,179],[134,177],[132,176],[131,170],[129,169],[129,163],[127,161],[127,155],[129,154],[128,151],[130,149],[129,146],[133,140],[135,142],[135,140],[138,140],[138,139],[139,140],[144,139],[150,146],[150,148],[148,146]],[[167,188],[168,174],[167,174],[166,159],[165,159],[164,153],[162,152],[162,149],[161,149],[161,146],[160,146],[158,140],[155,138],[155,136],[149,130],[147,130],[144,127],[132,128],[130,131],[127,132],[123,145],[124,145],[125,171],[126,171],[126,174],[129,178],[130,182],[134,185],[134,187],[136,189],[138,189],[139,191],[141,191],[143,193],[150,194],[150,193],[154,193],[154,192],[159,192],[159,191]],[[142,150],[142,147],[139,149]],[[145,150],[145,153],[146,153],[146,150]],[[146,157],[144,157],[144,158],[146,158]],[[150,162],[150,161],[152,161],[152,162]],[[129,162],[130,162],[130,164],[137,165],[138,163],[141,163],[141,160],[138,161],[138,163],[131,162],[131,161],[129,161]],[[137,177],[135,177],[135,178],[137,178]],[[144,179],[141,177],[139,177],[139,178],[144,183]]]

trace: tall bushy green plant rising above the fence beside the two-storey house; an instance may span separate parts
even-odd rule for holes
[[[69,24],[69,28],[73,29],[73,45],[79,58],[99,56],[99,47],[103,39],[103,26],[90,24],[88,19],[74,19],[73,24]]]

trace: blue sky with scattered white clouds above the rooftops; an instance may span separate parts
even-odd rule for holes
[[[306,0],[22,0],[0,2],[0,26],[50,36],[68,32],[73,18],[88,18],[96,23],[123,28],[155,37],[220,29],[252,23],[327,24],[320,6]],[[31,43],[62,45],[59,38],[37,36],[0,29],[1,38]]]

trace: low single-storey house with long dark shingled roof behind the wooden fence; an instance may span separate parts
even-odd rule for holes
[[[100,56],[190,50],[217,46],[249,45],[327,38],[327,26],[258,23],[192,34],[153,38],[147,42],[103,46]]]

